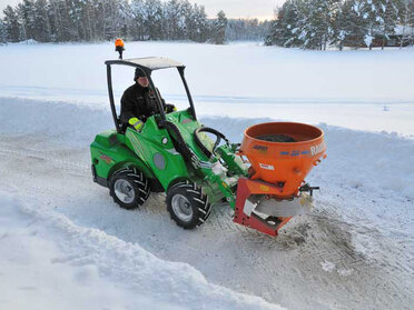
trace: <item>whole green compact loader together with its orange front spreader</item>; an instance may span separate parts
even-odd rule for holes
[[[185,79],[185,66],[167,58],[108,60],[109,102],[115,130],[96,136],[90,146],[93,181],[109,188],[121,208],[134,209],[150,192],[166,192],[171,219],[185,229],[203,224],[218,203],[234,209],[233,221],[269,236],[292,217],[308,212],[313,190],[305,177],[325,158],[321,129],[295,122],[267,122],[247,128],[241,143],[203,126]],[[121,123],[112,92],[112,66],[139,68],[149,80],[154,70],[177,69],[188,109],[159,113],[139,130]]]

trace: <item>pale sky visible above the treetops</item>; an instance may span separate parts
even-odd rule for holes
[[[164,0],[166,1],[166,0]],[[224,10],[229,18],[258,18],[272,19],[273,11],[277,6],[280,6],[285,0],[189,0],[191,3],[198,3],[206,7],[206,12],[209,17],[217,14],[219,10]],[[0,11],[2,16],[3,9],[10,4],[14,7],[22,0],[0,0]]]

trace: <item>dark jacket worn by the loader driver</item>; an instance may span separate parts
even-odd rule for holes
[[[158,89],[157,89],[158,91]],[[166,104],[161,99],[164,109],[168,110],[170,104]],[[120,121],[128,123],[130,118],[138,118],[146,121],[150,116],[159,113],[156,94],[149,88],[144,88],[138,83],[129,87],[121,98]]]

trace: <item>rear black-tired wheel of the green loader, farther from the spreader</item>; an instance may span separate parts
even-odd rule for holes
[[[135,168],[124,168],[112,174],[109,193],[121,208],[131,210],[147,200],[150,187],[141,171]]]

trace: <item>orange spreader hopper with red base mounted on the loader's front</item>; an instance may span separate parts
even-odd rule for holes
[[[238,181],[234,221],[277,236],[293,216],[310,208],[317,188],[305,178],[325,152],[324,133],[314,126],[268,122],[248,128],[239,153],[250,162],[250,176]]]

